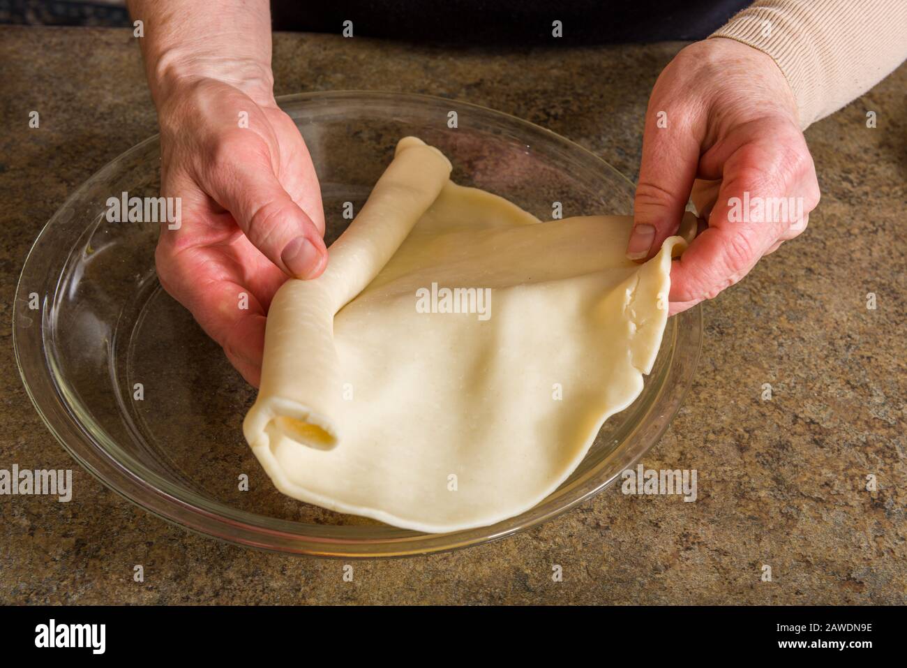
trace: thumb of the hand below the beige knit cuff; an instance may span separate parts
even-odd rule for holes
[[[629,260],[649,260],[674,234],[696,179],[699,139],[687,123],[649,103],[642,139],[642,163],[633,200]],[[679,115],[676,113],[675,115]]]

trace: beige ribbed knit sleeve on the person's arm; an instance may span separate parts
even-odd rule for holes
[[[758,0],[710,36],[774,58],[806,128],[868,91],[907,57],[907,0]]]

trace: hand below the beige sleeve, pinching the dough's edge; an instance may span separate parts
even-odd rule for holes
[[[746,276],[805,230],[819,201],[784,74],[771,57],[734,40],[690,44],[658,77],[646,113],[629,259],[658,252],[678,230],[690,197],[707,228],[673,262],[672,315]]]

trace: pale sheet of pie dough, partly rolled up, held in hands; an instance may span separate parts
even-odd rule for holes
[[[685,241],[638,265],[628,217],[542,223],[450,172],[401,140],[325,274],[271,303],[243,431],[283,493],[424,532],[490,525],[551,494],[642,390]],[[490,289],[463,301],[487,313],[417,309],[444,288]]]

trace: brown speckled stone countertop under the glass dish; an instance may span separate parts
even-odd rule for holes
[[[450,96],[539,123],[635,178],[649,89],[680,46],[461,53],[278,34],[274,62],[278,94]],[[357,562],[349,583],[343,562],[223,545],[149,516],[44,428],[15,368],[16,278],[66,196],[156,120],[126,30],[2,26],[0,81],[0,468],[74,467],[80,490],[68,504],[0,496],[0,603],[907,603],[907,67],[806,133],[823,190],[809,229],[705,307],[695,384],[643,460],[696,468],[696,503],[612,486],[493,544]],[[27,129],[33,109],[40,133]]]

